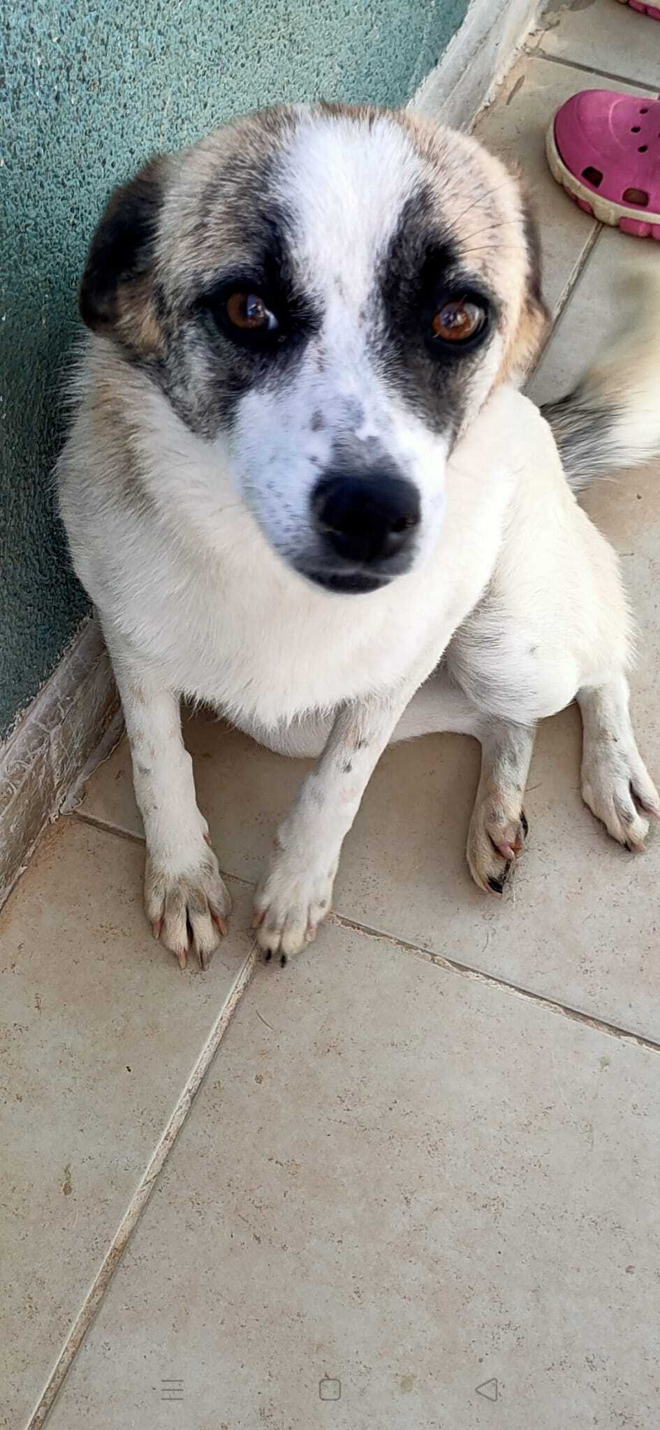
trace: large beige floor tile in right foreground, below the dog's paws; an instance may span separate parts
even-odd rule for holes
[[[262,968],[49,1430],[650,1430],[659,1057],[336,927]]]

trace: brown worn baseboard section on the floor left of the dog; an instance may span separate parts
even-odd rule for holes
[[[0,905],[82,771],[105,758],[120,732],[110,661],[89,618],[0,746]]]

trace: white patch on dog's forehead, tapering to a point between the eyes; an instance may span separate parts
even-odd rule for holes
[[[411,139],[388,116],[308,114],[278,164],[278,190],[293,222],[293,257],[319,292],[341,280],[359,302],[424,177]]]

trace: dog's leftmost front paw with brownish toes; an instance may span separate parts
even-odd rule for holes
[[[145,909],[153,937],[160,938],[185,968],[195,950],[202,968],[226,934],[232,899],[220,878],[213,849],[202,845],[198,862],[185,872],[159,864],[147,854]]]

